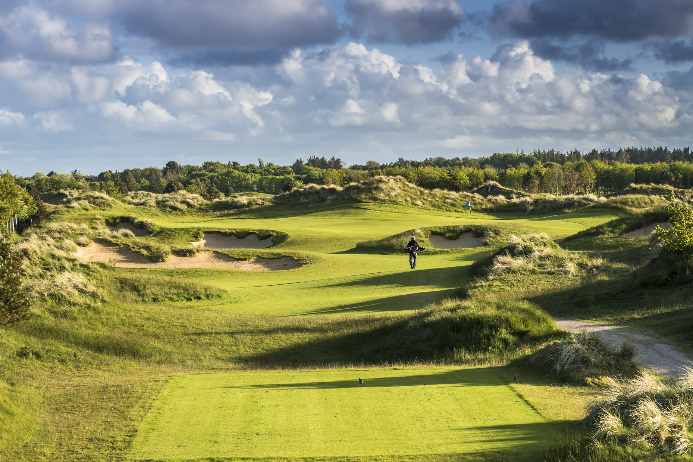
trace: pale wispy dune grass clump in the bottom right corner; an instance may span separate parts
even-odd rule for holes
[[[607,379],[588,420],[598,441],[687,454],[693,449],[693,369],[681,379],[647,371],[619,382]]]

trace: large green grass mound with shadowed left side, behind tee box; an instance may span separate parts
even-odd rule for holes
[[[446,299],[405,317],[337,318],[325,329],[329,335],[317,343],[248,361],[306,364],[306,352],[319,350],[322,361],[333,357],[333,364],[506,364],[564,335],[536,305],[496,296]]]

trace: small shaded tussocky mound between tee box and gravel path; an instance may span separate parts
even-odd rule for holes
[[[617,348],[594,332],[579,332],[545,346],[531,362],[564,380],[583,382],[588,377],[629,375],[636,371],[633,357],[632,344],[626,342]]]

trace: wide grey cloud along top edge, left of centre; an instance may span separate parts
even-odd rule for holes
[[[336,15],[317,0],[120,0],[114,17],[171,48],[289,49],[342,35]]]

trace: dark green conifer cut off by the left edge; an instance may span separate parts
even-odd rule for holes
[[[10,326],[29,317],[29,299],[21,289],[21,256],[0,238],[0,326]]]

